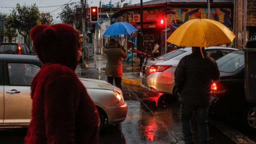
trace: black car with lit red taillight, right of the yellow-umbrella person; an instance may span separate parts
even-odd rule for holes
[[[231,52],[216,62],[220,78],[211,85],[213,97],[209,113],[256,130],[256,104],[248,103],[245,98],[244,52]]]

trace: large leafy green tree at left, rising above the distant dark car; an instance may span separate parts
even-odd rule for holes
[[[40,12],[36,4],[30,6],[16,5],[12,12],[8,16],[7,23],[11,28],[17,29],[18,32],[24,37],[25,43],[27,43],[27,36],[30,30],[37,24],[39,24]]]

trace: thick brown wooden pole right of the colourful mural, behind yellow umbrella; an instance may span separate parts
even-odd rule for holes
[[[243,31],[243,0],[234,1],[234,48],[242,49],[242,31]]]

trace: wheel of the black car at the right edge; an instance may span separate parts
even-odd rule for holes
[[[251,104],[244,110],[243,121],[246,128],[256,130],[256,105]]]

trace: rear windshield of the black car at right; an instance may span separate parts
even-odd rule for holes
[[[244,65],[244,54],[241,52],[228,53],[216,62],[220,72],[234,73]]]

